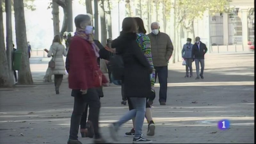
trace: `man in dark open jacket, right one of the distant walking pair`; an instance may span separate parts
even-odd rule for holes
[[[192,58],[196,63],[196,80],[204,79],[204,54],[207,52],[207,47],[204,43],[200,41],[200,37],[196,37],[196,43],[193,45]],[[201,65],[201,73],[199,74],[199,62]],[[199,77],[200,76],[200,77]]]

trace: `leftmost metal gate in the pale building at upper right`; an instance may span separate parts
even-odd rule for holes
[[[222,16],[210,16],[210,39],[212,45],[223,45]]]

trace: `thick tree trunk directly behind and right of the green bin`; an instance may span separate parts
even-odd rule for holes
[[[28,60],[28,42],[24,16],[23,0],[13,1],[17,49],[22,51],[21,67],[19,70],[19,84],[33,84]]]

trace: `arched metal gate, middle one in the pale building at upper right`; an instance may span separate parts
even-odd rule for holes
[[[229,44],[242,44],[242,21],[237,15],[231,15],[228,18],[228,43]]]

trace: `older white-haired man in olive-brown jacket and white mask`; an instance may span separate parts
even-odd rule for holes
[[[159,102],[160,105],[165,105],[167,95],[167,76],[168,76],[168,62],[172,56],[173,45],[170,37],[159,31],[159,23],[153,22],[151,24],[152,33],[148,34],[151,42],[151,53],[154,68],[156,69],[156,77],[160,84]],[[153,104],[154,97],[149,97],[148,104]]]

